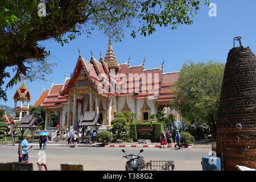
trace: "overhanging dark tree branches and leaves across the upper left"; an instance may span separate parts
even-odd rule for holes
[[[209,5],[208,0],[204,0]],[[46,5],[46,16],[42,4]],[[9,78],[7,67],[15,67],[16,75],[7,85],[11,88],[20,75],[30,80],[51,73],[49,50],[39,45],[55,39],[62,46],[81,34],[93,30],[112,32],[115,40],[123,38],[123,28],[131,28],[131,36],[144,36],[156,26],[176,29],[191,24],[200,9],[198,0],[1,0],[0,2],[0,98],[7,99],[2,85]],[[34,67],[38,69],[32,69]],[[31,70],[32,69],[32,70]],[[35,73],[36,72],[36,73]]]

